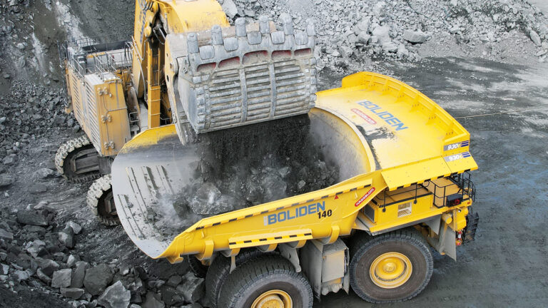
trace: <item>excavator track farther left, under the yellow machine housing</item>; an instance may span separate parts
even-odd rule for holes
[[[82,183],[101,177],[97,158],[98,153],[93,148],[93,144],[87,136],[83,135],[68,140],[59,147],[55,155],[55,166],[66,180]],[[86,166],[78,170],[80,164],[77,164],[76,160],[78,162],[86,160]]]

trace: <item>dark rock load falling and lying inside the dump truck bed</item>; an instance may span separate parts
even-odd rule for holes
[[[191,184],[151,207],[149,218],[171,236],[203,217],[309,193],[338,183],[338,165],[326,161],[307,115],[201,135]],[[174,207],[173,222],[163,207]],[[168,219],[168,221],[166,221]]]

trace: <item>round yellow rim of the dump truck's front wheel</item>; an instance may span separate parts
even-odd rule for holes
[[[373,283],[383,289],[394,289],[411,277],[411,261],[399,252],[387,252],[371,263],[369,274]]]

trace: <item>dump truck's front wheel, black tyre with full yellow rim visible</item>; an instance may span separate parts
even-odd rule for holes
[[[411,299],[425,289],[433,269],[430,248],[413,228],[352,239],[350,286],[367,302]]]

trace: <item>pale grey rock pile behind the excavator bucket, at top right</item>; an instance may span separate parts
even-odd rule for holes
[[[230,18],[278,19],[290,14],[295,28],[313,21],[318,33],[318,68],[345,68],[349,58],[383,56],[419,60],[421,44],[455,40],[470,46],[497,44],[511,31],[522,31],[537,46],[541,61],[548,53],[547,18],[524,0],[430,1],[273,1],[224,0]]]

